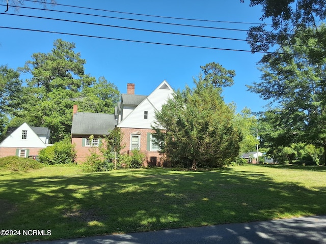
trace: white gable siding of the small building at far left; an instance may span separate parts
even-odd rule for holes
[[[22,139],[22,131],[27,131],[26,139]],[[1,143],[2,147],[28,147],[45,148],[45,143],[35,134],[31,127],[24,123]]]

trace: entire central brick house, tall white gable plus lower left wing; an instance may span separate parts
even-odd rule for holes
[[[101,137],[117,127],[120,128],[122,144],[125,145],[121,154],[129,154],[131,150],[138,148],[146,155],[144,166],[162,165],[163,159],[154,142],[151,126],[155,120],[155,112],[160,111],[168,98],[172,98],[174,91],[166,80],[148,96],[135,95],[134,90],[135,85],[128,83],[127,93],[121,95],[115,114],[80,113],[74,105],[71,141],[75,144],[78,163],[84,162],[87,155],[90,155],[90,147],[98,147]],[[90,135],[94,136],[92,141]]]

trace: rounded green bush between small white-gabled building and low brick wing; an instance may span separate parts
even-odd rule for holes
[[[75,162],[76,151],[70,139],[66,138],[40,150],[39,157],[45,164],[69,164]]]

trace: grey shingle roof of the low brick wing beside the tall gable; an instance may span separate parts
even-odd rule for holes
[[[114,114],[77,112],[73,114],[71,134],[108,135],[116,125]]]

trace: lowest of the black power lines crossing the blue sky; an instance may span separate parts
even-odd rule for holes
[[[16,27],[7,27],[7,26],[0,26],[0,28],[15,29],[15,30],[19,30],[19,31],[31,31],[31,32],[71,35],[71,36],[78,36],[78,37],[90,37],[90,38],[108,39],[108,40],[116,40],[116,41],[137,42],[137,43],[157,44],[157,45],[166,45],[166,46],[176,46],[176,47],[192,47],[192,48],[202,48],[202,49],[212,49],[212,50],[252,52],[251,50],[242,50],[242,49],[230,49],[230,48],[218,48],[218,47],[203,47],[203,46],[181,45],[181,44],[172,44],[172,43],[147,42],[147,41],[138,41],[138,40],[130,40],[130,39],[99,37],[99,36],[73,34],[73,33],[63,33],[63,32],[51,32],[51,31],[43,31],[43,30],[38,30],[38,29],[26,29],[26,28],[16,28]],[[264,51],[257,51],[257,52],[258,53],[274,53],[274,52],[264,52]],[[285,53],[279,53],[279,54],[285,54]]]

